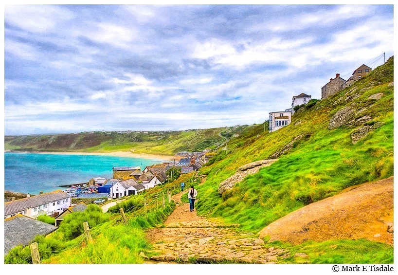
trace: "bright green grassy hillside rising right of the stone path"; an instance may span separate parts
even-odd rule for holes
[[[335,96],[296,114],[292,123],[271,134],[252,137],[253,143],[238,139],[234,152],[202,169],[207,181],[199,186],[202,215],[222,217],[242,224],[242,229],[257,232],[267,224],[310,203],[337,194],[347,186],[393,175],[393,59]],[[352,91],[355,89],[355,91]],[[360,96],[333,105],[347,92]],[[369,95],[383,92],[378,100]],[[369,107],[356,118],[370,115],[385,124],[353,145],[350,133],[356,127],[327,129],[330,118],[344,106],[356,110]],[[298,121],[301,124],[294,126]],[[260,127],[260,126],[258,126]],[[248,176],[223,198],[217,193],[220,182],[232,176],[243,164],[267,159],[298,135],[309,135],[269,167]]]

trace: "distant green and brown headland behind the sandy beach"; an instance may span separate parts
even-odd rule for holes
[[[215,149],[226,141],[223,135],[241,133],[250,126],[199,129],[188,131],[167,131],[148,133],[103,133],[90,132],[78,134],[6,136],[6,150],[30,151],[76,151],[112,152],[133,151],[174,155],[180,151],[201,151]]]

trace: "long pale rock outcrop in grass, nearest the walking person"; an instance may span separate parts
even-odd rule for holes
[[[241,182],[246,176],[257,173],[260,168],[269,166],[275,161],[261,160],[240,166],[232,177],[219,184],[218,193],[223,194],[225,191],[233,188],[236,183]]]

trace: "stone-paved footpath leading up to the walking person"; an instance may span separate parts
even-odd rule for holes
[[[147,232],[153,252],[159,253],[148,261],[188,262],[195,258],[200,263],[276,263],[280,257],[289,257],[286,250],[266,249],[264,241],[253,234],[237,233],[236,225],[223,225],[190,212],[189,204],[181,202],[182,195],[186,192],[172,197],[177,206],[164,225]]]

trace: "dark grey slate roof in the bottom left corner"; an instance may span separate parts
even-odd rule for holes
[[[26,216],[17,215],[4,220],[4,255],[18,245],[26,246],[37,235],[48,235],[58,227]]]

